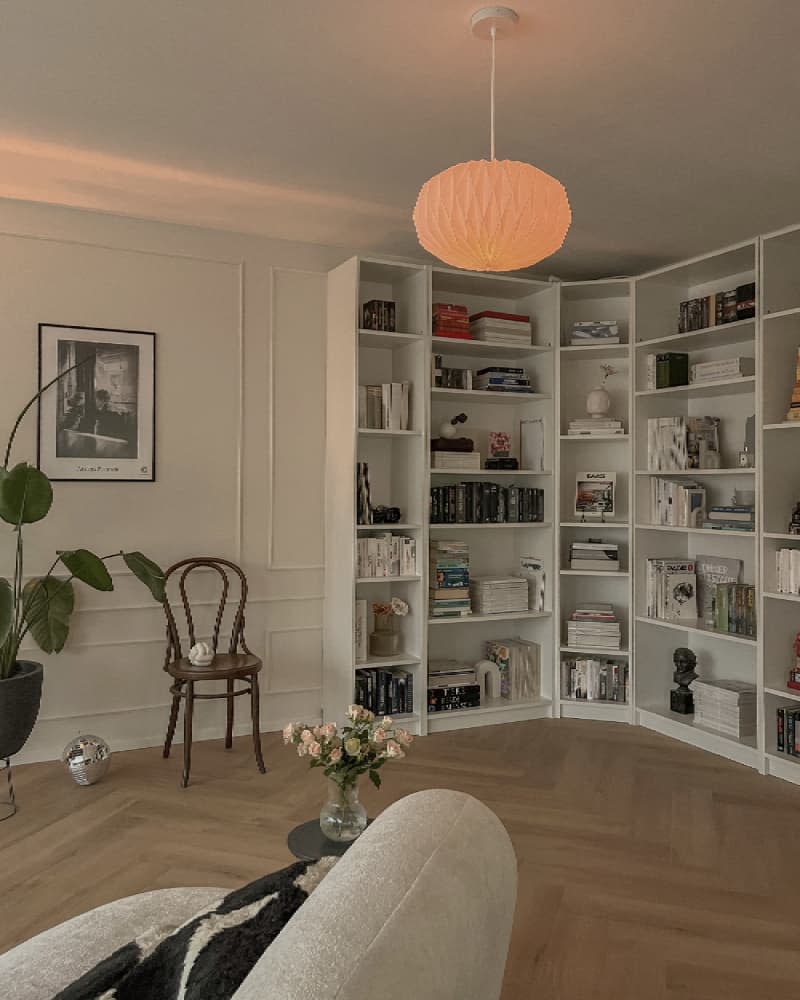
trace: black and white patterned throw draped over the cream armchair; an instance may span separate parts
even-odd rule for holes
[[[153,928],[53,1000],[230,1000],[337,860],[298,861],[177,929]]]

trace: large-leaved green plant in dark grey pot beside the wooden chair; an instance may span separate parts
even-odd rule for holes
[[[156,601],[163,602],[165,597],[164,573],[141,552],[97,556],[89,549],[65,549],[56,553],[44,576],[25,579],[23,529],[47,517],[53,504],[53,487],[43,472],[27,462],[9,467],[11,449],[25,414],[43,392],[66,374],[59,374],[24,407],[11,430],[0,467],[0,519],[11,526],[15,548],[13,577],[0,578],[0,760],[6,761],[22,749],[30,736],[42,693],[42,664],[19,658],[22,642],[30,637],[45,653],[58,653],[64,648],[75,605],[73,581],[94,590],[113,590],[114,582],[105,564],[119,558]]]

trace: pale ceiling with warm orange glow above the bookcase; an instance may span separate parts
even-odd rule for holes
[[[419,256],[487,155],[480,0],[0,0],[0,196]],[[796,0],[518,0],[498,156],[573,208],[540,272],[628,274],[800,222]]]

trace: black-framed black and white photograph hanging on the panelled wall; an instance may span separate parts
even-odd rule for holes
[[[39,324],[39,468],[61,481],[155,479],[155,339]]]

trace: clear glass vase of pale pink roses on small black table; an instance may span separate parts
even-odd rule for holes
[[[381,787],[380,769],[387,760],[401,760],[413,737],[395,726],[387,715],[378,721],[361,705],[347,710],[347,724],[339,732],[336,723],[308,726],[290,722],[283,742],[297,747],[299,757],[308,757],[311,767],[323,768],[328,781],[328,799],[319,814],[319,825],[328,840],[347,842],[367,828],[367,811],[358,795],[362,774],[369,774]]]

